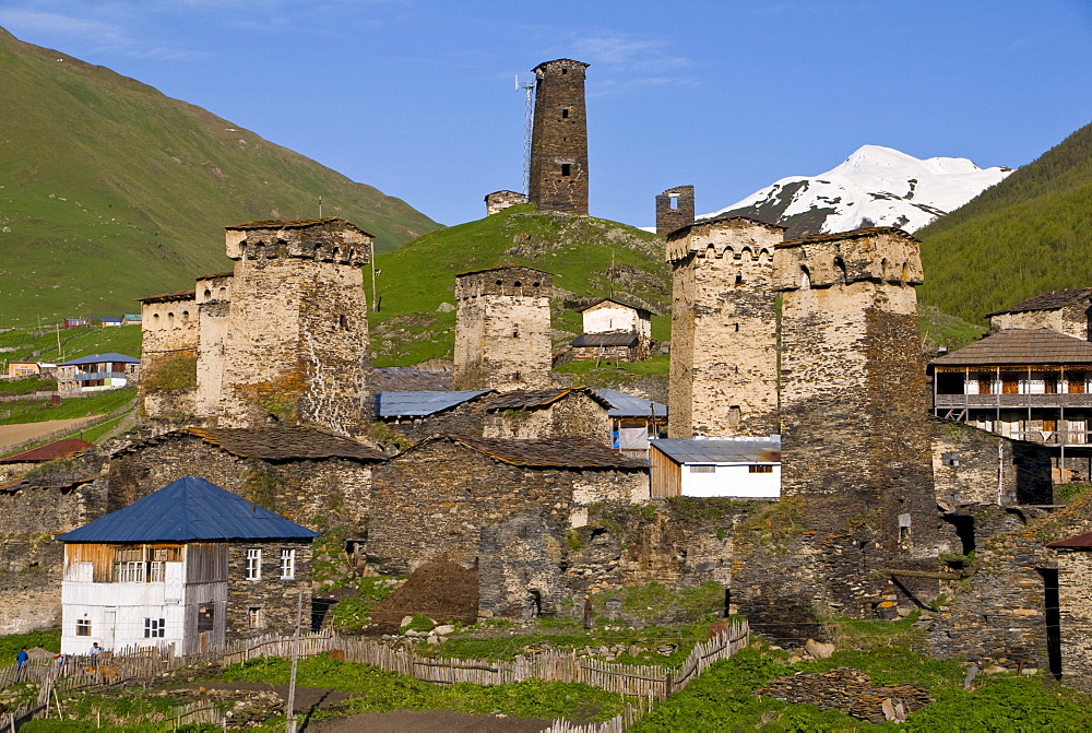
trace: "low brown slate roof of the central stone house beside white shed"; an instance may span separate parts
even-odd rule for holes
[[[644,461],[626,458],[617,450],[585,438],[477,438],[468,435],[442,435],[432,440],[451,440],[495,461],[537,469],[648,469]],[[412,450],[412,449],[411,449]]]

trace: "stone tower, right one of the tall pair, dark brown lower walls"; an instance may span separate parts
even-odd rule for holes
[[[793,239],[775,260],[782,497],[824,547],[815,577],[832,602],[867,614],[895,592],[885,568],[936,569],[918,243],[874,227]]]

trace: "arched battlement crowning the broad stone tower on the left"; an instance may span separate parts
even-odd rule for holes
[[[233,260],[311,259],[336,264],[368,263],[371,235],[343,218],[247,222],[226,228]]]

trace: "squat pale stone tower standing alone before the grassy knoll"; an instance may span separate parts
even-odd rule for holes
[[[524,267],[455,277],[454,389],[553,385],[553,275]]]

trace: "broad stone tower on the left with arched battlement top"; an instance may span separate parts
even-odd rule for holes
[[[370,240],[341,218],[227,227],[235,276],[221,385],[198,385],[206,403],[219,391],[221,425],[308,423],[352,435],[370,422],[360,271]]]

